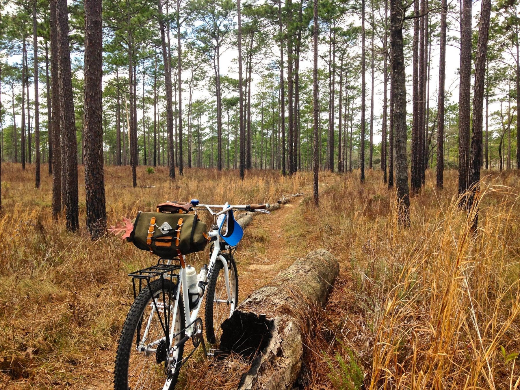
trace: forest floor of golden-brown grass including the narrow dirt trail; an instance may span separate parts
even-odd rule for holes
[[[42,166],[45,172],[46,166]],[[50,185],[34,168],[3,164],[0,215],[0,388],[110,388],[121,326],[133,300],[128,272],[153,262],[118,238],[90,241],[80,167],[80,231],[50,218]],[[269,282],[309,251],[340,262],[327,306],[306,335],[298,386],[327,388],[515,387],[520,352],[520,176],[485,172],[479,229],[457,206],[457,172],[445,188],[426,185],[411,199],[411,226],[397,224],[395,193],[380,171],[320,173],[320,207],[309,172],[186,170],[170,183],[166,168],[105,173],[109,224],[165,200],[275,202],[303,197],[255,216],[236,252],[239,296]],[[153,187],[151,187],[153,186]],[[207,251],[207,250],[206,250]],[[207,253],[189,261],[200,266]],[[247,364],[196,359],[185,388],[233,388]]]

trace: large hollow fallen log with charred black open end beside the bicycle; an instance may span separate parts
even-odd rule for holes
[[[240,389],[287,389],[302,368],[302,329],[311,311],[326,301],[339,274],[334,256],[310,252],[254,291],[222,324],[220,353],[251,360]]]

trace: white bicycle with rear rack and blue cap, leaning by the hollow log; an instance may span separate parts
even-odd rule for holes
[[[209,264],[196,270],[184,256],[160,258],[156,265],[132,272],[135,301],[121,331],[115,359],[114,389],[172,390],[180,369],[202,345],[199,310],[205,301],[206,339],[218,346],[220,325],[231,316],[238,303],[238,274],[233,251],[242,238],[242,228],[233,211],[269,213],[269,204],[214,205],[190,202],[195,213],[208,211],[213,226]],[[192,343],[188,343],[191,339]]]

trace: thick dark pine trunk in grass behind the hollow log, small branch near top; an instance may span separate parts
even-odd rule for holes
[[[410,224],[410,195],[408,189],[408,164],[406,161],[406,74],[402,42],[402,24],[405,15],[402,0],[391,0],[392,25],[392,89],[394,92],[396,188],[399,222]]]

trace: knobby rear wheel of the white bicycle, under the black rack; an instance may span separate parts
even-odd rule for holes
[[[172,281],[154,280],[150,288],[147,286],[141,290],[132,304],[121,331],[115,358],[115,390],[172,390],[175,387],[178,373],[167,378],[166,362],[172,357],[174,361],[183,358],[183,347],[170,352],[171,345],[175,345],[183,335],[177,335],[168,346],[163,326],[167,318],[170,328],[175,321],[174,334],[185,327],[181,298],[174,316],[176,291],[177,285]]]

